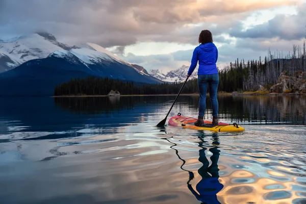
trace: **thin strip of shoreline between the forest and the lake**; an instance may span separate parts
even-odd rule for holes
[[[131,95],[118,95],[120,97],[125,96],[176,96],[177,94],[131,94]],[[198,96],[198,93],[182,93],[180,95],[185,96]],[[209,94],[207,94],[209,95]],[[299,95],[303,96],[306,95],[306,93],[267,93],[267,92],[257,92],[257,91],[248,91],[248,92],[237,92],[237,93],[226,93],[226,92],[220,92],[218,95],[232,95],[232,96],[243,96],[243,95],[269,95],[269,96],[275,96],[275,95],[282,95],[282,96],[290,96],[290,95]],[[60,98],[60,97],[118,97],[118,96],[108,96],[108,95],[60,95],[60,96],[50,96],[53,98]]]

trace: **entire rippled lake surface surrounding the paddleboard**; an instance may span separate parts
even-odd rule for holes
[[[175,96],[0,98],[0,203],[306,203],[306,97],[218,97],[244,132],[156,127]]]

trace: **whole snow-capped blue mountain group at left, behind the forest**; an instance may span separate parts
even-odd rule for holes
[[[92,75],[139,84],[162,83],[142,66],[97,44],[69,46],[48,33],[0,41],[0,95],[50,96],[56,85]]]

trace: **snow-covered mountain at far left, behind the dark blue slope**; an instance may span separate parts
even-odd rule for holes
[[[58,42],[48,33],[35,33],[0,41],[0,73],[33,59],[42,59],[56,50],[77,48]]]

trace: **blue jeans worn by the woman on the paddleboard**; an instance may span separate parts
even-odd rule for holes
[[[199,88],[199,116],[204,116],[206,109],[206,93],[209,86],[209,96],[212,103],[213,116],[218,116],[218,99],[217,89],[219,85],[219,74],[199,74],[198,75],[198,88]]]

